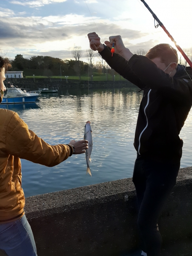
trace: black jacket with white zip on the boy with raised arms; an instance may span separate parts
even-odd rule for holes
[[[192,80],[182,65],[172,78],[145,56],[129,61],[105,49],[102,58],[125,79],[140,89],[140,103],[134,146],[140,155],[156,160],[180,161],[183,142],[181,128],[192,106]]]

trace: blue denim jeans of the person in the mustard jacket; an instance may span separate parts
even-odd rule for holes
[[[16,221],[0,224],[0,249],[8,256],[37,256],[33,233],[25,215]]]

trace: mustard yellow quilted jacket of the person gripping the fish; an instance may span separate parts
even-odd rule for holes
[[[17,113],[0,109],[0,223],[20,218],[24,214],[20,158],[55,166],[69,155],[69,146],[49,145],[30,131]]]

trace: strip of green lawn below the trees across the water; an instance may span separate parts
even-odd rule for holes
[[[47,76],[26,76],[26,78],[48,78]],[[51,78],[57,78],[60,79],[62,78],[62,80],[66,80],[65,76],[51,76]],[[67,78],[68,80],[72,79],[72,80],[79,80],[79,76],[69,76]],[[81,76],[81,80],[86,80],[88,81],[88,76]],[[89,81],[91,80],[91,78],[89,77]],[[107,76],[106,75],[99,75],[99,74],[94,74],[93,75],[93,81],[106,81],[107,80]],[[108,74],[108,81],[112,81],[113,77],[112,75]],[[120,77],[120,75],[115,75],[115,80],[119,81],[119,80],[125,80],[122,76]]]

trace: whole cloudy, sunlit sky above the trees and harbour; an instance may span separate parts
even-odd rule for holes
[[[192,51],[192,0],[146,0],[183,49]],[[92,18],[93,17],[93,18]],[[174,46],[140,0],[0,0],[0,54],[73,59],[74,45],[82,60],[89,48],[87,34],[95,31],[104,43],[121,35],[133,53],[160,43]]]

